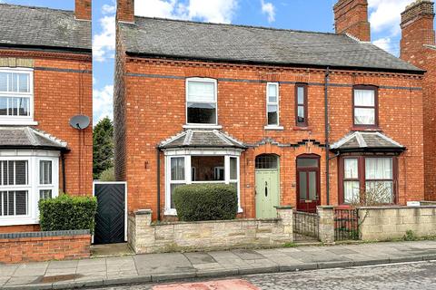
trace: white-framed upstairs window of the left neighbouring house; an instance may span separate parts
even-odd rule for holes
[[[32,120],[33,73],[0,69],[0,121]]]

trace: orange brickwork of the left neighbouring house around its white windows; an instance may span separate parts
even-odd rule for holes
[[[93,119],[91,54],[0,50],[0,59],[31,60],[24,63],[34,68],[34,120],[38,122],[35,128],[68,143],[70,151],[64,155],[65,191],[72,195],[92,195],[92,126],[77,131],[69,125],[77,114]],[[59,169],[61,191],[61,160]],[[35,226],[0,227],[0,232],[37,229]]]

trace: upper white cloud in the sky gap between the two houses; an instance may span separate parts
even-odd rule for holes
[[[114,58],[115,51],[115,5],[103,5],[104,16],[98,21],[100,23],[100,34],[94,34],[93,57],[96,62],[104,62]]]

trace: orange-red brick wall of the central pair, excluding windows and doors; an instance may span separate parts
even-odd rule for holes
[[[157,210],[156,145],[183,130],[185,123],[185,81],[187,77],[208,77],[218,81],[218,122],[223,131],[254,147],[241,156],[240,218],[255,217],[254,160],[262,153],[280,156],[282,205],[296,203],[295,159],[301,154],[321,156],[321,200],[326,204],[324,136],[324,71],[290,67],[267,67],[226,63],[158,61],[127,56],[123,90],[115,90],[115,120],[123,123],[123,134],[115,140],[124,152],[115,157],[118,179],[128,182],[128,208]],[[117,75],[122,75],[117,72]],[[166,76],[166,77],[160,77]],[[171,76],[171,77],[168,77]],[[224,80],[226,79],[226,80]],[[232,82],[229,79],[238,81]],[[246,82],[244,80],[250,80]],[[255,81],[255,82],[253,82]],[[280,122],[283,131],[265,131],[267,81],[280,85]],[[292,82],[308,82],[309,128],[294,128]],[[399,202],[421,200],[423,191],[422,92],[421,77],[396,73],[333,71],[329,87],[330,141],[352,131],[352,84],[373,84],[379,90],[381,131],[408,150],[399,158]],[[410,89],[418,88],[418,89]],[[122,94],[116,95],[122,92]],[[125,102],[123,102],[125,94]],[[118,100],[118,101],[116,101]],[[120,103],[122,107],[118,107]],[[116,119],[118,116],[119,119]],[[273,140],[272,142],[268,140]],[[303,140],[316,140],[303,141]],[[277,146],[272,143],[292,144]],[[320,145],[321,144],[321,145]],[[330,155],[331,157],[332,154]],[[164,158],[161,159],[161,209],[164,200]],[[145,168],[144,163],[148,162]],[[329,161],[332,205],[338,203],[337,159]],[[156,215],[154,214],[154,218]]]

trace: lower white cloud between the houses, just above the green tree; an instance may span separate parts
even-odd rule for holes
[[[114,85],[106,85],[102,90],[94,89],[94,124],[108,116],[113,120]]]

